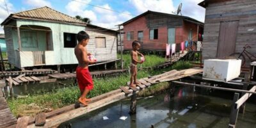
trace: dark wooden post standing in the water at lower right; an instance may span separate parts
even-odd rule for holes
[[[233,99],[233,104],[231,106],[231,114],[229,118],[229,128],[235,128],[236,127],[236,120],[237,120],[237,115],[238,115],[238,109],[235,108],[235,103],[239,99],[239,93],[235,93],[234,99]]]

